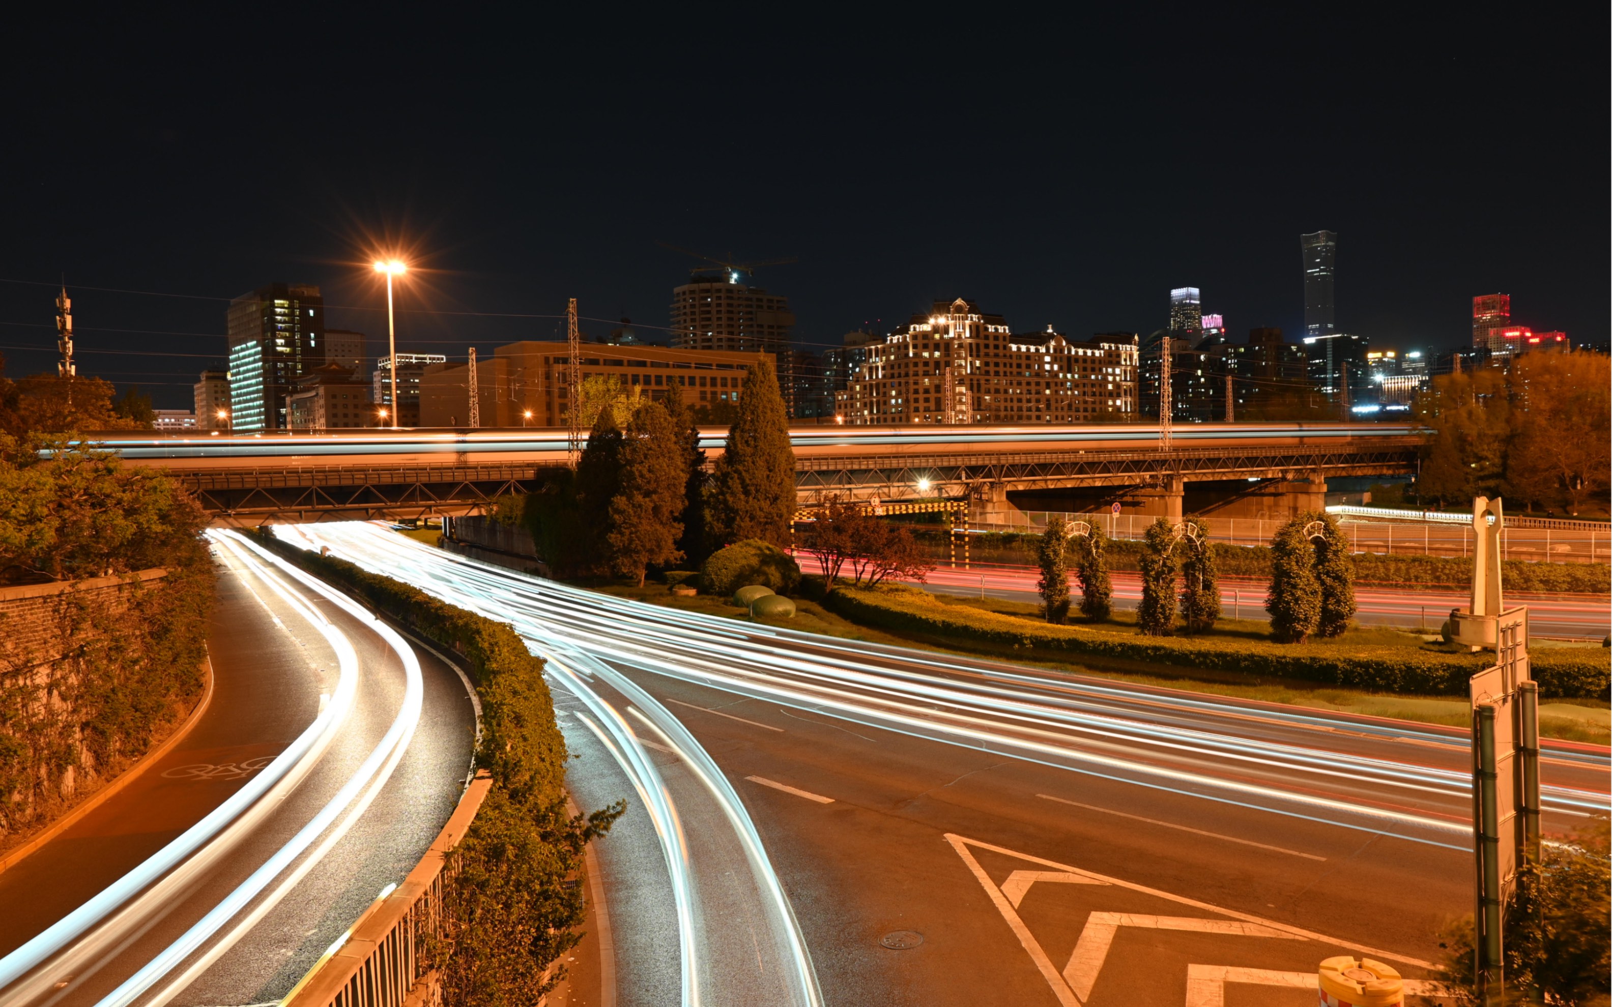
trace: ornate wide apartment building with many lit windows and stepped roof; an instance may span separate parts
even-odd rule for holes
[[[1014,334],[974,301],[935,301],[867,356],[835,395],[837,421],[870,424],[1078,424],[1135,419],[1128,342]]]

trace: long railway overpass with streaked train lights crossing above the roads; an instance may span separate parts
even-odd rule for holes
[[[1024,509],[1280,517],[1323,503],[1327,479],[1415,472],[1422,435],[1377,424],[1199,424],[1161,448],[1156,427],[795,427],[800,501],[970,501],[975,520]],[[701,430],[708,461],[727,430]],[[480,512],[567,462],[566,432],[343,430],[105,433],[126,464],[193,490],[216,525]]]

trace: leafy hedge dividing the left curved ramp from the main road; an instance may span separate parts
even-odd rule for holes
[[[458,881],[445,894],[445,939],[430,955],[448,1004],[535,1004],[563,976],[548,967],[577,944],[584,922],[584,849],[624,806],[566,812],[566,740],[535,657],[509,624],[419,588],[274,538],[261,543],[321,580],[464,657],[482,701],[476,764],[493,788],[453,851]],[[451,954],[450,954],[451,952]]]

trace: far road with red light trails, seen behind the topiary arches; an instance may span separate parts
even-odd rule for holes
[[[811,557],[801,557],[811,570]],[[935,567],[922,585],[932,591],[978,598],[983,591],[991,598],[1040,603],[1035,582],[1040,574],[1033,567],[974,564],[970,569]],[[1141,575],[1130,570],[1114,570],[1114,606],[1135,609],[1141,601]],[[1075,603],[1080,601],[1078,583],[1072,585]],[[1269,582],[1225,577],[1220,582],[1220,611],[1227,617],[1267,620],[1265,591]],[[1536,636],[1564,636],[1601,640],[1612,632],[1612,598],[1583,595],[1519,595],[1509,593],[1507,604],[1528,606],[1528,628]],[[1472,601],[1470,591],[1451,588],[1380,588],[1357,585],[1354,599],[1359,606],[1356,622],[1361,625],[1385,625],[1402,630],[1427,628],[1436,633],[1449,617],[1451,609],[1464,609]]]

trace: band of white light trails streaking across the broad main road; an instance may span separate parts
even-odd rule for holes
[[[1349,754],[1338,744],[1272,741],[1259,730],[1206,730],[1199,715],[1211,706],[1206,701],[1162,702],[1157,693],[1049,682],[1028,672],[987,675],[978,665],[927,653],[793,630],[740,628],[732,620],[517,577],[371,525],[316,525],[303,532],[361,566],[403,575],[455,604],[513,620],[526,635],[558,636],[572,648],[658,675],[1417,843],[1449,846],[1460,836],[1454,847],[1465,849],[1470,835],[1465,772]],[[904,667],[890,667],[896,659]],[[1138,702],[1145,702],[1140,715]],[[1224,715],[1224,709],[1217,712]],[[1261,711],[1261,717],[1332,740],[1328,725],[1312,714],[1272,709]],[[1414,727],[1380,727],[1373,733],[1451,743],[1446,735]],[[1593,757],[1589,764],[1601,767],[1606,759]],[[1567,815],[1607,806],[1601,789],[1575,786],[1546,786],[1544,799],[1548,810]]]

